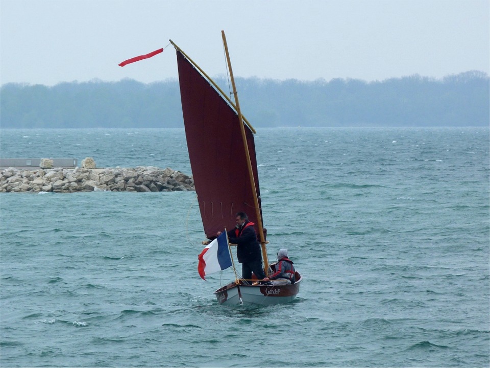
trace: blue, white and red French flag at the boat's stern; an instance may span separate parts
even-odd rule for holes
[[[199,255],[198,271],[203,280],[210,273],[227,269],[231,266],[230,249],[228,245],[228,234],[221,233]]]

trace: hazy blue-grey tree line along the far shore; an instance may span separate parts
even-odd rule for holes
[[[228,85],[226,80],[216,82],[222,88]],[[243,114],[255,127],[490,124],[490,82],[488,75],[477,71],[443,79],[237,78],[236,84]],[[183,127],[179,83],[130,79],[52,87],[9,83],[0,90],[0,124],[3,128]]]

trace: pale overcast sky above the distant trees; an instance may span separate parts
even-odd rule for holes
[[[0,84],[210,76],[384,80],[490,74],[488,0],[0,0]]]

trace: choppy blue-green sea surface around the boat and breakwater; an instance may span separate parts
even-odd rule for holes
[[[199,278],[194,192],[2,193],[0,365],[488,367],[489,142],[258,129],[269,259],[304,277],[269,307],[218,305],[230,270]],[[190,174],[183,129],[2,129],[0,154]]]

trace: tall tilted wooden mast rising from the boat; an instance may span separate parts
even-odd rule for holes
[[[247,167],[249,169],[250,184],[252,186],[252,193],[254,196],[254,206],[257,216],[257,226],[259,228],[260,244],[262,246],[262,257],[264,258],[265,275],[268,276],[269,261],[267,259],[267,248],[265,247],[264,228],[262,226],[262,216],[260,215],[259,200],[257,198],[257,189],[255,188],[254,171],[252,169],[252,163],[250,160],[249,146],[247,144],[247,136],[245,135],[245,127],[243,126],[243,118],[241,116],[240,103],[238,102],[238,94],[236,93],[235,79],[233,78],[233,70],[231,68],[230,55],[228,53],[228,45],[226,43],[225,31],[221,31],[223,37],[223,44],[225,46],[226,60],[228,62],[228,69],[230,70],[231,85],[233,87],[233,95],[235,96],[236,112],[238,114],[238,121],[240,123],[241,137],[243,140],[243,148],[247,156]]]

